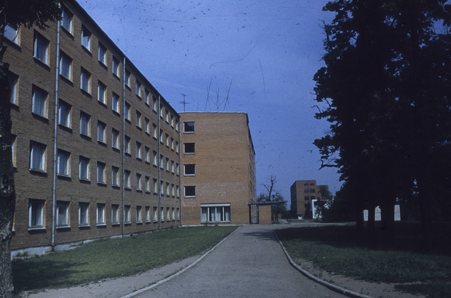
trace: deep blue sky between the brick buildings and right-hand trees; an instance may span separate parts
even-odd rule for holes
[[[247,112],[257,193],[273,174],[288,201],[296,180],[341,185],[312,144],[329,127],[312,108],[326,2],[79,1],[176,111],[185,94],[186,111]]]

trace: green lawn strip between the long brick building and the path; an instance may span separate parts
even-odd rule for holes
[[[29,259],[13,261],[16,291],[64,288],[133,275],[202,254],[236,226],[183,227],[99,240]]]

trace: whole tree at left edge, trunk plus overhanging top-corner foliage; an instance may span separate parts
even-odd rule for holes
[[[8,81],[9,64],[3,60],[6,52],[6,26],[18,28],[37,26],[45,29],[47,22],[59,19],[57,0],[0,1],[0,296],[12,297],[10,242],[15,209],[14,174],[11,160],[11,110]]]

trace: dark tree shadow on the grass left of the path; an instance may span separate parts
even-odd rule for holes
[[[12,266],[14,290],[20,292],[72,286],[74,284],[69,280],[73,279],[74,275],[83,280],[85,271],[71,269],[80,264],[83,263],[49,262],[40,257],[15,260]]]

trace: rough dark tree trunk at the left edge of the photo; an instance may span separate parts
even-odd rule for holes
[[[3,37],[3,36],[2,36]],[[3,63],[6,47],[0,45],[0,297],[12,297],[10,243],[15,208],[11,152],[10,87],[8,65]]]

